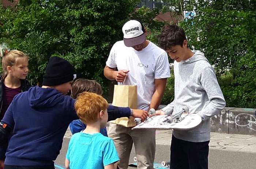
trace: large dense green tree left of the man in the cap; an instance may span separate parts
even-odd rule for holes
[[[0,7],[0,43],[29,55],[29,80],[41,84],[51,56],[75,66],[79,78],[95,79],[106,91],[103,68],[121,27],[138,0],[20,0]]]

